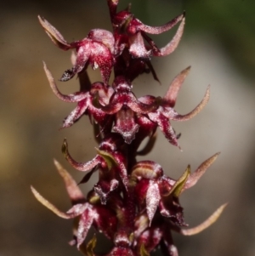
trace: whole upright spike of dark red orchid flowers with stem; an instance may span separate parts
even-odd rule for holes
[[[174,109],[178,91],[187,77],[190,67],[173,79],[164,96],[133,94],[133,79],[142,73],[151,73],[158,80],[150,63],[153,56],[166,56],[177,48],[184,31],[184,14],[178,15],[163,26],[146,26],[135,18],[130,9],[117,12],[117,0],[107,0],[113,31],[94,29],[84,39],[67,43],[65,38],[47,20],[38,17],[43,29],[53,43],[61,49],[76,49],[72,54],[71,69],[64,72],[61,82],[76,76],[80,90],[74,94],[62,94],[45,63],[44,71],[54,94],[65,102],[77,103],[65,117],[62,128],[71,127],[82,116],[88,116],[94,125],[95,138],[99,142],[95,156],[88,162],[77,162],[68,151],[66,139],[62,145],[65,159],[73,168],[86,173],[80,184],[86,183],[94,172],[99,181],[88,196],[83,196],[77,183],[59,162],[55,161],[59,174],[65,181],[72,208],[61,212],[44,199],[33,187],[39,202],[61,218],[79,217],[71,245],[76,245],[86,255],[97,255],[96,236],[87,245],[84,241],[88,230],[94,226],[113,242],[105,255],[147,256],[156,247],[166,255],[178,255],[173,244],[171,230],[183,235],[193,235],[211,225],[225,205],[212,213],[205,222],[195,228],[187,228],[179,196],[195,185],[215,161],[218,153],[208,158],[195,172],[190,166],[178,180],[164,174],[161,166],[149,160],[138,162],[156,141],[156,128],[160,128],[170,144],[178,146],[178,134],[171,121],[185,121],[201,111],[209,100],[209,88],[193,111],[181,115]],[[158,48],[148,34],[161,34],[178,25],[173,39]],[[87,67],[99,68],[102,81],[90,82]],[[110,84],[111,71],[114,72]],[[139,146],[149,138],[144,149]]]

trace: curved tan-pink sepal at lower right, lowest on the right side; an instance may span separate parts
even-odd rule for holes
[[[212,225],[223,213],[224,208],[228,205],[228,203],[224,203],[221,207],[219,207],[212,215],[205,220],[201,225],[197,225],[194,228],[191,229],[180,229],[178,230],[179,233],[183,234],[184,236],[193,236],[195,234],[200,233],[202,230],[207,229],[210,225]]]

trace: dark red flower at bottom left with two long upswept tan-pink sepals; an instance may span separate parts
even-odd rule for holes
[[[59,162],[54,161],[54,163],[59,174],[65,181],[66,190],[73,204],[72,208],[66,213],[61,212],[52,203],[42,197],[33,187],[31,187],[31,191],[39,202],[59,217],[73,219],[79,216],[78,226],[74,231],[76,239],[71,241],[71,244],[77,244],[77,247],[80,248],[92,225],[103,232],[106,237],[113,239],[117,225],[116,213],[111,208],[102,207],[99,203],[91,203],[94,202],[92,198],[89,198],[90,202],[87,202],[77,183],[71,178],[71,175],[60,166]],[[105,225],[105,219],[107,219],[107,225]]]

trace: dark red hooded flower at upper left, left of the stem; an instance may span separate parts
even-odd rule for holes
[[[110,31],[95,29],[90,31],[88,37],[85,37],[81,41],[67,43],[59,31],[57,31],[57,29],[47,20],[40,16],[38,16],[38,19],[44,30],[47,32],[48,37],[50,37],[56,46],[64,50],[71,48],[77,50],[74,66],[64,72],[60,81],[70,80],[84,68],[87,68],[89,64],[93,69],[99,67],[103,82],[105,85],[108,84],[111,68],[115,61],[113,56],[115,41]]]

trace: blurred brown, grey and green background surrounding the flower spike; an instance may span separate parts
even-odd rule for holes
[[[191,65],[178,95],[176,110],[186,113],[200,102],[211,84],[209,104],[189,122],[173,123],[182,133],[178,151],[158,132],[148,158],[159,162],[177,179],[190,163],[221,151],[217,162],[181,197],[190,226],[201,223],[224,202],[228,208],[203,233],[174,236],[180,255],[255,255],[255,2],[252,0],[139,0],[132,2],[139,20],[159,26],[186,11],[184,37],[166,58],[153,59],[161,85],[144,75],[133,82],[135,93],[162,96],[179,71]],[[79,161],[94,157],[94,136],[86,117],[71,128],[58,130],[75,105],[60,102],[51,92],[42,70],[45,60],[54,77],[71,67],[70,54],[56,48],[39,26],[45,17],[69,42],[86,37],[92,28],[111,30],[105,0],[4,1],[0,9],[0,255],[80,255],[70,247],[71,220],[59,219],[31,195],[34,185],[62,210],[70,208],[53,158],[79,181],[61,155],[67,138]],[[174,31],[174,29],[173,29]],[[165,45],[173,31],[153,37]],[[93,82],[99,71],[88,70]],[[77,90],[78,82],[58,83],[63,93]],[[147,158],[147,157],[146,157]],[[145,158],[143,158],[145,159]],[[94,174],[92,182],[96,181]],[[84,192],[91,184],[82,185]],[[105,247],[104,242],[99,247]]]

